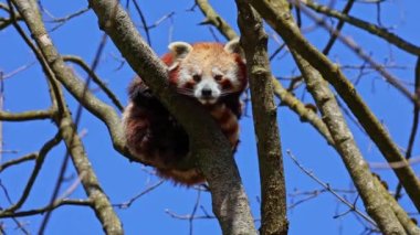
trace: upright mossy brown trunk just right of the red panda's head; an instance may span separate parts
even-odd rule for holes
[[[237,0],[241,44],[250,79],[252,116],[259,152],[261,181],[261,234],[287,234],[286,189],[283,156],[267,57],[267,35],[261,17],[243,0]]]

